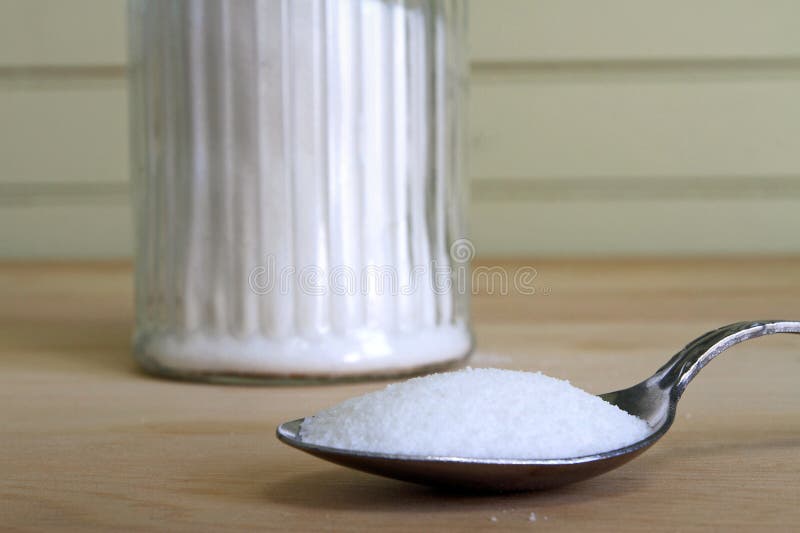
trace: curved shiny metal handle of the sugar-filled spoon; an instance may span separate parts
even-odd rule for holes
[[[734,344],[773,333],[800,334],[800,322],[791,320],[736,322],[709,331],[687,344],[656,372],[659,385],[662,389],[671,388],[677,400],[689,382],[717,355]]]

